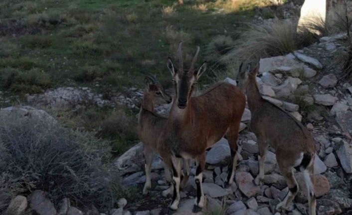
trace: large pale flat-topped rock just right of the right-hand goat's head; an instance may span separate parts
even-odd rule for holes
[[[285,56],[276,56],[269,58],[262,58],[259,61],[259,73],[264,72],[283,72],[289,73],[294,77],[299,77],[303,71],[303,65],[298,63],[294,59],[290,59]]]

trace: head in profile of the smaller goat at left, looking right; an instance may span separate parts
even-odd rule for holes
[[[153,98],[154,104],[170,104],[173,98],[165,92],[163,86],[157,81],[155,77],[147,76],[147,93],[149,93]]]

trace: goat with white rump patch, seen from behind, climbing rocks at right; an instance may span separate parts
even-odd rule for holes
[[[248,106],[251,111],[251,129],[258,139],[259,175],[254,183],[259,185],[264,179],[264,162],[268,144],[275,149],[276,159],[281,173],[286,179],[289,192],[276,207],[277,210],[289,209],[292,206],[298,185],[293,168],[302,171],[308,190],[309,214],[316,214],[314,195],[314,153],[315,144],[308,130],[291,114],[262,98],[256,81],[259,70],[249,67],[245,72],[242,64],[239,69],[240,88],[246,91]]]

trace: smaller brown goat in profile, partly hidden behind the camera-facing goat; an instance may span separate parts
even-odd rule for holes
[[[138,136],[144,144],[144,152],[146,157],[146,183],[144,185],[143,194],[147,195],[151,188],[151,165],[153,161],[154,151],[158,152],[163,158],[165,164],[165,178],[167,183],[171,184],[170,170],[172,167],[170,156],[166,151],[158,150],[157,141],[161,135],[167,118],[154,113],[154,105],[171,103],[172,97],[169,96],[163,86],[157,81],[155,77],[146,77],[147,88],[144,90],[143,101],[141,110],[138,118]],[[161,147],[162,148],[162,147]],[[160,149],[161,149],[160,148]],[[186,183],[189,177],[189,166],[188,161],[184,161],[184,183]],[[171,186],[168,190],[163,192],[163,196],[167,196],[172,192],[173,187]]]

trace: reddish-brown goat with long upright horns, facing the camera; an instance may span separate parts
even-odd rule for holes
[[[199,53],[192,60],[189,70],[183,69],[181,43],[178,46],[178,69],[171,58],[168,68],[173,75],[175,95],[173,105],[161,136],[170,150],[173,163],[174,196],[170,205],[178,208],[181,158],[196,160],[194,181],[197,187],[194,211],[203,208],[202,172],[205,167],[205,149],[215,144],[224,135],[231,149],[231,164],[228,169],[227,183],[232,184],[237,164],[237,136],[241,117],[246,104],[244,94],[228,83],[218,83],[200,96],[192,97],[192,91],[199,77],[206,70],[206,62],[195,70],[194,65]],[[198,207],[198,208],[197,208]]]

